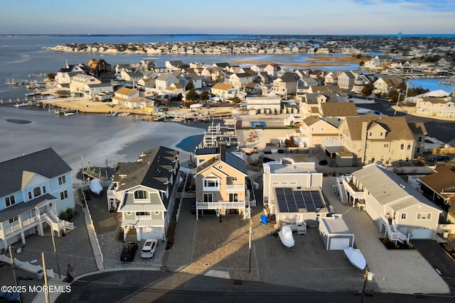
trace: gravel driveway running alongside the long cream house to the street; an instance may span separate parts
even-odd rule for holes
[[[395,292],[401,294],[448,294],[446,282],[434,270],[419,250],[387,250],[379,238],[383,232],[374,224],[365,211],[358,211],[351,205],[341,204],[333,191],[335,177],[325,177],[323,193],[333,206],[336,214],[343,219],[355,235],[355,246],[367,261],[374,277],[367,282],[366,290],[372,292]]]

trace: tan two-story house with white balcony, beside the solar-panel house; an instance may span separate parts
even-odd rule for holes
[[[210,211],[249,218],[250,192],[246,185],[245,160],[225,150],[223,145],[198,148],[195,157],[196,219]]]

